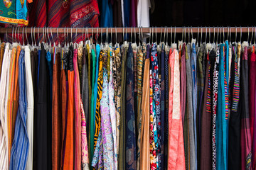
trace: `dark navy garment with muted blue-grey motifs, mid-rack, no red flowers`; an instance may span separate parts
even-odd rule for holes
[[[126,79],[126,102],[125,102],[125,148],[126,148],[126,169],[137,169],[137,146],[135,134],[134,115],[134,61],[132,55],[132,45],[129,43],[127,52],[127,79]]]

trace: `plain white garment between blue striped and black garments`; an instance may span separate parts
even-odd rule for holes
[[[31,56],[30,49],[28,46],[25,46],[25,75],[26,75],[26,97],[27,97],[27,113],[28,117],[26,120],[28,140],[29,140],[29,149],[28,149],[28,161],[26,164],[26,169],[33,169],[33,108],[34,108],[34,99],[33,99],[33,82],[32,82],[32,73],[31,73]]]

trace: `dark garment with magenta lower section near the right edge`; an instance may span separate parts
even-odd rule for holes
[[[241,60],[241,167],[243,169],[252,169],[252,139],[250,134],[250,115],[248,98],[248,63],[247,47],[244,47]]]

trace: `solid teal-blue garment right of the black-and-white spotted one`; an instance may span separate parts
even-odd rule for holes
[[[225,80],[224,80],[224,44],[220,45],[219,75],[218,75],[218,101],[216,114],[216,148],[217,148],[217,169],[228,169],[227,154],[225,154],[225,132],[223,122],[225,121]]]

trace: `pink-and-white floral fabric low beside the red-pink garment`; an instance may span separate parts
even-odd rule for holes
[[[85,111],[81,100],[81,135],[82,135],[82,170],[89,170],[89,154],[87,146]]]

